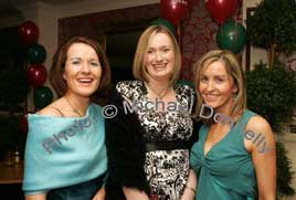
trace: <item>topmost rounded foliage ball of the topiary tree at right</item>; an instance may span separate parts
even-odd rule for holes
[[[247,39],[252,45],[265,49],[268,66],[281,54],[296,51],[296,1],[263,0],[246,19]]]

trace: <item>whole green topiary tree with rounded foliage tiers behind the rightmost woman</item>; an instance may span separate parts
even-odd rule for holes
[[[275,133],[283,130],[296,108],[296,75],[281,62],[281,56],[296,52],[296,1],[263,0],[247,18],[247,39],[252,45],[265,49],[268,63],[258,63],[246,74],[247,105],[264,116]],[[277,194],[292,196],[294,171],[287,150],[276,144]]]

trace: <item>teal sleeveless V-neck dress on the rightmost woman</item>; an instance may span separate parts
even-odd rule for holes
[[[253,200],[257,197],[256,176],[252,155],[244,147],[244,129],[256,114],[244,110],[229,134],[204,156],[209,126],[199,131],[192,146],[190,164],[198,177],[198,200]]]

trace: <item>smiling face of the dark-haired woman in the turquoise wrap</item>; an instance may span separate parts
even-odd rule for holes
[[[63,77],[67,94],[89,97],[98,87],[102,66],[95,50],[85,43],[74,43],[67,51]]]

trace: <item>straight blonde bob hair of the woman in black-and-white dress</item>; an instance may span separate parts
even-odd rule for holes
[[[181,53],[180,53],[179,44],[178,44],[173,33],[163,25],[151,25],[142,32],[142,34],[138,41],[138,45],[137,45],[137,50],[136,50],[136,54],[135,54],[135,59],[134,59],[133,74],[134,74],[135,78],[137,78],[137,80],[145,81],[145,82],[149,81],[149,75],[148,75],[146,66],[145,66],[145,56],[147,54],[148,46],[149,46],[151,39],[157,33],[165,33],[172,41],[172,45],[173,45],[172,50],[175,53],[175,66],[172,70],[172,75],[171,75],[170,81],[173,84],[178,81],[179,75],[180,75]]]

